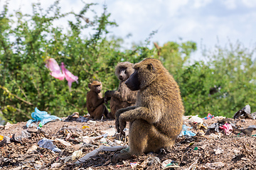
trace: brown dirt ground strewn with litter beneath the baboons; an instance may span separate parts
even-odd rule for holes
[[[129,139],[119,141],[114,120],[85,119],[80,123],[76,118],[62,118],[39,129],[36,126],[26,128],[26,122],[7,124],[0,127],[0,135],[11,138],[6,143],[0,141],[0,169],[256,169],[256,128],[246,129],[256,125],[256,120],[223,119],[203,120],[200,126],[191,122],[188,116],[184,117],[184,125],[191,127],[189,130],[196,136],[181,135],[171,149],[134,156],[118,164],[113,164],[111,158],[120,150],[101,151],[85,162],[78,161],[102,145],[128,144]],[[219,132],[207,129],[214,123],[227,122],[237,128],[233,128],[230,135],[225,135],[218,127]],[[52,140],[59,152],[39,147],[38,141],[43,138]]]

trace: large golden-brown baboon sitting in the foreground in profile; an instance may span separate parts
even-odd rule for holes
[[[170,148],[182,129],[184,108],[171,74],[159,60],[151,58],[134,64],[134,70],[125,84],[132,91],[139,90],[136,105],[116,113],[117,132],[124,135],[129,122],[129,152],[114,155],[112,162]]]

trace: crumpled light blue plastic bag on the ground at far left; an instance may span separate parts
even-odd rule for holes
[[[55,119],[61,120],[61,118],[58,118],[55,115],[48,115],[48,113],[46,111],[39,111],[38,108],[35,108],[35,112],[31,113],[31,117],[33,119],[28,120],[28,122],[26,123],[26,127],[27,128],[33,122],[37,123],[38,121],[41,121],[39,126],[42,127],[43,125],[45,125],[46,123],[50,122],[51,120],[55,120]]]

